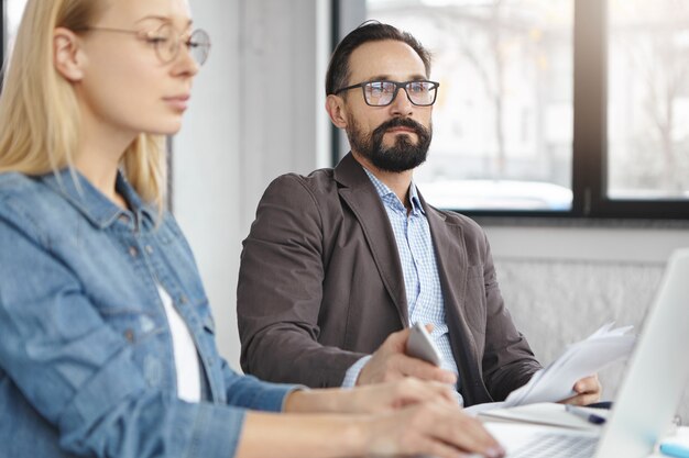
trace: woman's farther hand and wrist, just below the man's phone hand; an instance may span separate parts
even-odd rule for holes
[[[458,407],[453,387],[407,377],[387,383],[353,389],[295,391],[285,401],[285,412],[383,413],[419,402]]]

